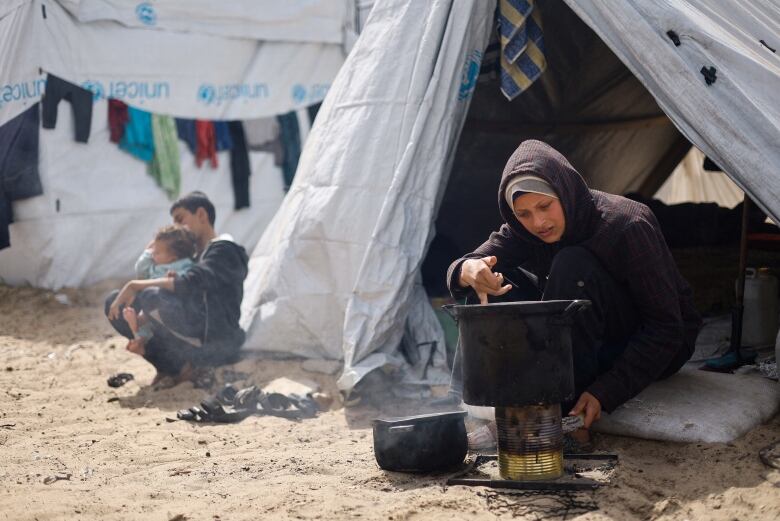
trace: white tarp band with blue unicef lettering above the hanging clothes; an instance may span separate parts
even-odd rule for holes
[[[0,124],[40,99],[47,72],[92,90],[96,99],[117,98],[158,114],[274,116],[322,101],[345,56],[341,43],[80,23],[45,0],[22,2],[0,19],[0,44]]]

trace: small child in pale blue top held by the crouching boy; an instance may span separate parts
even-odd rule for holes
[[[136,261],[136,275],[139,279],[158,279],[184,274],[195,264],[196,253],[197,244],[192,232],[178,224],[163,226]],[[131,306],[127,306],[122,315],[135,336],[127,349],[143,355],[144,344],[153,335],[148,318]]]

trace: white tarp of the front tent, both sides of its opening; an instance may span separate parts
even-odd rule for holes
[[[780,62],[759,43],[780,47],[773,3],[566,3],[688,140],[780,215]],[[473,88],[471,62],[476,74],[494,7],[377,2],[252,255],[242,310],[248,349],[343,359],[344,390],[387,363],[418,298],[468,105],[460,94]],[[705,66],[717,69],[710,86]],[[426,309],[412,318],[427,321]]]

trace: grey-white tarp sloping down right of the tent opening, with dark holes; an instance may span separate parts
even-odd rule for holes
[[[780,216],[777,2],[566,3],[652,93],[675,126],[764,211]],[[667,36],[674,31],[681,45]],[[702,67],[715,67],[707,86]]]

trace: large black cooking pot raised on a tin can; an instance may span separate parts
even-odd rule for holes
[[[572,315],[589,300],[450,305],[458,322],[463,401],[521,407],[574,397]]]

